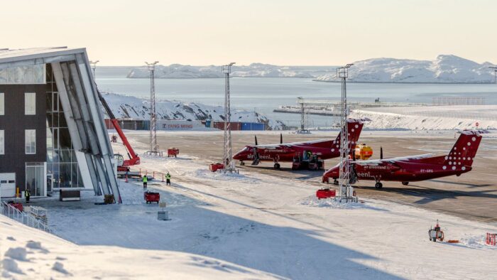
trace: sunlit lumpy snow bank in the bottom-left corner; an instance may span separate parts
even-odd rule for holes
[[[0,224],[1,279],[276,278],[255,269],[197,254],[80,246],[26,227],[3,215],[0,215]],[[16,236],[16,239],[11,236]],[[45,249],[40,249],[42,245]]]

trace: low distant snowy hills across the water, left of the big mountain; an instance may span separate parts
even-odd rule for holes
[[[231,77],[318,77],[327,72],[334,72],[333,67],[323,66],[277,66],[263,63],[251,65],[234,65],[231,68]],[[150,77],[147,68],[133,68],[127,77]],[[168,66],[157,65],[155,77],[163,79],[189,79],[224,77],[221,66],[192,66],[172,64]]]

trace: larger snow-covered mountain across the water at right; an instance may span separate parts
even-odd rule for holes
[[[354,63],[350,82],[493,82],[491,63],[476,63],[456,55],[438,55],[435,60],[372,58]],[[336,73],[317,77],[317,81],[337,82]]]

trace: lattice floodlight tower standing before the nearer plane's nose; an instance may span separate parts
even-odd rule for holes
[[[340,126],[340,173],[339,173],[339,200],[345,202],[356,202],[354,189],[351,187],[351,166],[349,161],[350,144],[349,144],[349,108],[347,107],[346,79],[349,77],[349,68],[353,64],[347,64],[344,67],[337,68],[337,77],[342,81],[342,102]]]

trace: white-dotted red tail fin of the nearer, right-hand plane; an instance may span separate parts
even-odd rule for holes
[[[464,130],[460,131],[459,138],[450,150],[449,154],[445,156],[445,164],[452,166],[453,170],[462,168],[463,166],[471,166],[473,164],[476,151],[481,142],[481,133],[488,131],[478,130]]]

